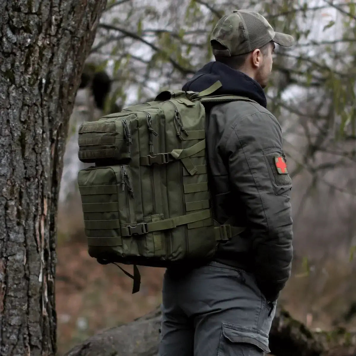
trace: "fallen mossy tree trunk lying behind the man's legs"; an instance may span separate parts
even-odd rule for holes
[[[90,337],[65,356],[157,356],[159,308],[132,323]],[[352,356],[355,337],[347,333],[312,333],[287,312],[277,309],[269,335],[274,356]]]

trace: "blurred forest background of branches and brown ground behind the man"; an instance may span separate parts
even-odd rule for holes
[[[327,0],[108,1],[87,60],[111,78],[103,108],[90,85],[70,121],[58,212],[59,355],[99,329],[126,323],[161,301],[163,270],[141,268],[142,288],[87,253],[77,190],[77,128],[177,89],[211,61],[209,35],[227,11],[252,9],[280,32],[266,94],[284,132],[293,178],[293,274],[279,304],[312,329],[356,331],[356,2]],[[114,104],[116,108],[114,108]],[[100,106],[100,105],[99,105]],[[128,268],[130,270],[130,268]]]

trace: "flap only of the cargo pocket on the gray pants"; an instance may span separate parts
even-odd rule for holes
[[[246,342],[256,345],[264,352],[271,352],[268,347],[268,335],[257,329],[223,323],[223,334],[231,342]]]

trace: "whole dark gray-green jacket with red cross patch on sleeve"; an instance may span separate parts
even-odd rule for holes
[[[261,105],[216,105],[206,124],[215,219],[247,230],[220,244],[215,260],[255,273],[268,300],[290,275],[293,255],[289,191],[281,127]],[[279,169],[278,169],[279,168]]]

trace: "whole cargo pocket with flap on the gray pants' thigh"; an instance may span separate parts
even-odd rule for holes
[[[256,349],[256,354],[251,351],[251,347]],[[257,356],[263,352],[271,352],[268,335],[257,329],[223,323],[217,356]]]

